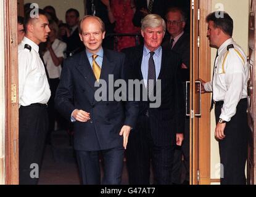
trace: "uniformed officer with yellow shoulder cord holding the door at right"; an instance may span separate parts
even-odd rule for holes
[[[233,20],[226,12],[215,12],[206,18],[207,37],[217,56],[213,79],[202,82],[202,92],[213,92],[217,126],[215,137],[219,142],[221,184],[246,184],[247,159],[247,80],[249,69],[246,54],[234,42]],[[212,108],[211,107],[211,108]]]

